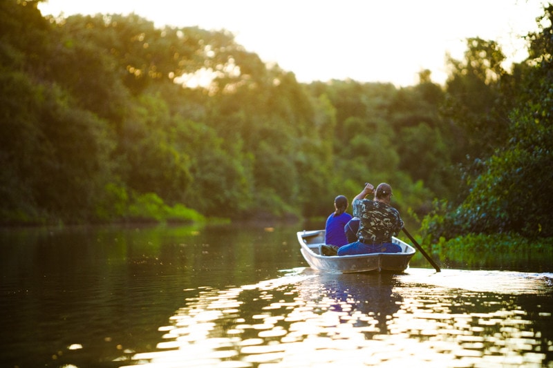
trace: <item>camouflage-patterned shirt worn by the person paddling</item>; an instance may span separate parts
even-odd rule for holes
[[[353,215],[361,219],[357,238],[368,243],[392,241],[403,229],[403,220],[397,209],[373,200],[353,201]]]

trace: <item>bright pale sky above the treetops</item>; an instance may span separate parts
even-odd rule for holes
[[[265,62],[301,82],[354,79],[418,83],[429,69],[442,84],[446,52],[462,59],[465,39],[498,41],[509,61],[526,56],[521,36],[536,27],[543,0],[48,0],[42,14],[135,12],[164,25],[229,30]]]

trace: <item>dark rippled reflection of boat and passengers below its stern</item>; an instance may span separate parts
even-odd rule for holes
[[[341,322],[353,322],[354,327],[375,320],[377,328],[368,335],[382,334],[403,300],[393,292],[394,283],[387,273],[321,273],[302,282],[300,295],[328,311],[345,313]]]

